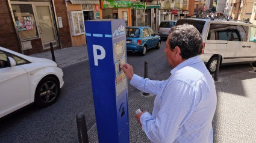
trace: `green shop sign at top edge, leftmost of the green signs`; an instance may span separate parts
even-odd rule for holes
[[[110,1],[102,0],[102,8],[128,8],[131,7],[131,1]]]

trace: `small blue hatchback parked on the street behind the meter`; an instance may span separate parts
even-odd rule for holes
[[[127,26],[125,32],[127,51],[140,52],[145,55],[146,51],[152,47],[160,49],[160,36],[148,26]]]

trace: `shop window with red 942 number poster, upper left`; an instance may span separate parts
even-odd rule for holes
[[[11,4],[20,40],[39,37],[31,4]]]

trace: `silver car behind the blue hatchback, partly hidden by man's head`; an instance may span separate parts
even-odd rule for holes
[[[160,35],[161,39],[167,38],[170,34],[170,28],[174,26],[176,20],[164,20],[160,23],[158,27],[158,34]]]

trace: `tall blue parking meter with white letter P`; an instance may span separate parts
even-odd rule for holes
[[[99,142],[129,142],[125,19],[89,20],[86,41]]]

